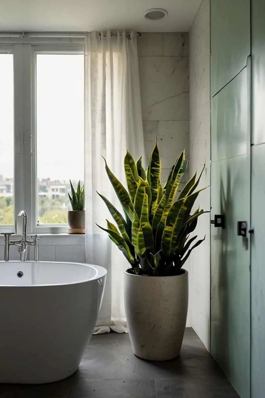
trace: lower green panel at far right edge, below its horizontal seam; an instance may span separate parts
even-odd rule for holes
[[[265,144],[251,147],[251,398],[265,396]]]

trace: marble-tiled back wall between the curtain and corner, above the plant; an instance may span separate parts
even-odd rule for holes
[[[184,148],[189,156],[188,33],[143,33],[137,47],[145,145],[150,154],[158,136],[164,182]]]

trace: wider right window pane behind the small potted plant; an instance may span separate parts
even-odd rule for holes
[[[37,54],[38,223],[67,222],[69,179],[84,176],[84,56]]]

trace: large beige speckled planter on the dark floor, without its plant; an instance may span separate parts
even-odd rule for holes
[[[166,361],[180,353],[188,312],[188,271],[169,277],[125,272],[124,303],[133,353]]]

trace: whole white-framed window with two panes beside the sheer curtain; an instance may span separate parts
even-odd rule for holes
[[[69,180],[84,179],[83,65],[81,38],[0,38],[0,230],[25,209],[29,233],[68,232]]]

